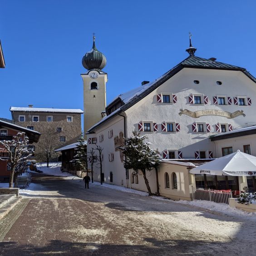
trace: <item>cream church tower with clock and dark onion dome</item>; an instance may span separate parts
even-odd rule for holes
[[[82,59],[84,68],[88,70],[81,74],[84,83],[84,134],[103,118],[106,108],[108,74],[102,69],[107,60],[96,48],[95,36],[93,40],[93,48]]]

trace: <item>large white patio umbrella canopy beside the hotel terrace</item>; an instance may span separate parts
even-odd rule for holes
[[[242,153],[235,153],[217,158],[190,170],[192,174],[256,176],[256,157]]]

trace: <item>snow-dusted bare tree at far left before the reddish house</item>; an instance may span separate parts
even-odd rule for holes
[[[20,167],[25,166],[32,155],[27,151],[27,143],[29,141],[29,138],[25,137],[25,133],[17,133],[17,135],[13,138],[13,140],[0,141],[0,144],[5,147],[7,155],[9,157],[8,159],[0,158],[0,160],[8,161],[8,163],[10,164],[9,187],[13,187],[15,171],[19,174]],[[17,181],[15,183],[17,185]]]

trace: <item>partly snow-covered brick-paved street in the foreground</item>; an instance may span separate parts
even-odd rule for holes
[[[0,222],[0,255],[255,255],[256,223],[81,180],[37,176]]]

